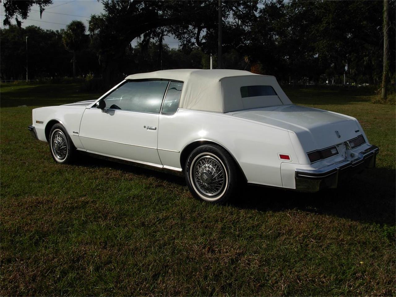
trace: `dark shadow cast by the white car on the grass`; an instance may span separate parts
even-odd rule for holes
[[[169,183],[186,186],[181,176],[152,169],[120,164],[80,154],[78,165],[113,168],[146,177],[156,177]],[[243,199],[234,199],[228,206],[258,211],[300,209],[317,214],[334,215],[362,223],[395,225],[396,173],[386,168],[367,169],[344,181],[337,189],[317,193],[301,193],[277,188],[246,185]]]

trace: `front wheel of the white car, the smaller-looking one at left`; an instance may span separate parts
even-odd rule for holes
[[[55,162],[66,164],[72,161],[75,148],[63,125],[55,124],[49,131],[49,149]]]

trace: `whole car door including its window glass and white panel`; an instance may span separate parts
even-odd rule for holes
[[[88,152],[162,166],[157,151],[158,114],[167,80],[131,80],[82,116],[79,137]],[[97,105],[99,105],[97,103]]]

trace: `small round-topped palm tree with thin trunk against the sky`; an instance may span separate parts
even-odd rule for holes
[[[85,25],[82,21],[71,21],[62,31],[63,44],[73,53],[73,77],[76,77],[76,51],[84,47]]]

